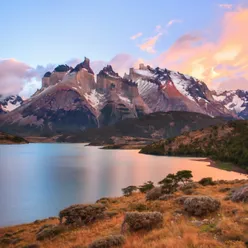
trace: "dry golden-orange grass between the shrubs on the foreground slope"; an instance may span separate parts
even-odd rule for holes
[[[58,219],[46,219],[41,223],[31,223],[0,229],[0,240],[6,233],[9,238],[22,239],[16,245],[0,247],[24,247],[38,244],[41,248],[86,248],[92,241],[107,235],[120,234],[124,213],[141,209],[160,211],[164,215],[161,229],[125,233],[126,243],[123,248],[245,248],[248,241],[248,204],[225,201],[228,193],[219,192],[223,187],[238,187],[240,184],[221,184],[199,187],[197,195],[209,195],[221,201],[221,208],[202,218],[175,213],[183,207],[168,201],[145,201],[145,195],[133,194],[130,197],[109,198],[108,211],[117,211],[111,219],[104,219],[81,228],[70,228],[64,233],[44,241],[36,241],[36,233],[44,224],[58,224]],[[177,192],[176,196],[183,195]],[[195,226],[192,220],[211,220],[211,224]]]

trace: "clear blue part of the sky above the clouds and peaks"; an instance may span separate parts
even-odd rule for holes
[[[228,1],[234,3],[235,1]],[[118,53],[150,58],[137,45],[153,36],[156,25],[173,25],[157,43],[166,50],[181,34],[202,30],[224,10],[215,0],[84,1],[12,0],[0,3],[2,58],[15,58],[35,66],[62,63],[71,58],[110,60]],[[143,36],[135,41],[130,37]]]

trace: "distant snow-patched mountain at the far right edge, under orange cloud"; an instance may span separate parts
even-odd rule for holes
[[[219,94],[213,91],[213,97],[238,117],[248,119],[248,91],[231,90]]]

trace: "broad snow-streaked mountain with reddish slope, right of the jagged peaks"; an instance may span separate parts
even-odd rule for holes
[[[196,78],[143,64],[138,70],[131,68],[125,78],[138,84],[139,93],[152,112],[189,111],[237,118],[232,110],[214,99],[205,83]]]

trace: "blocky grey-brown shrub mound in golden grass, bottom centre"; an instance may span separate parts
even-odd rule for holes
[[[125,230],[126,225],[131,232],[151,230],[163,225],[163,215],[160,212],[128,212],[122,223],[122,231]]]

